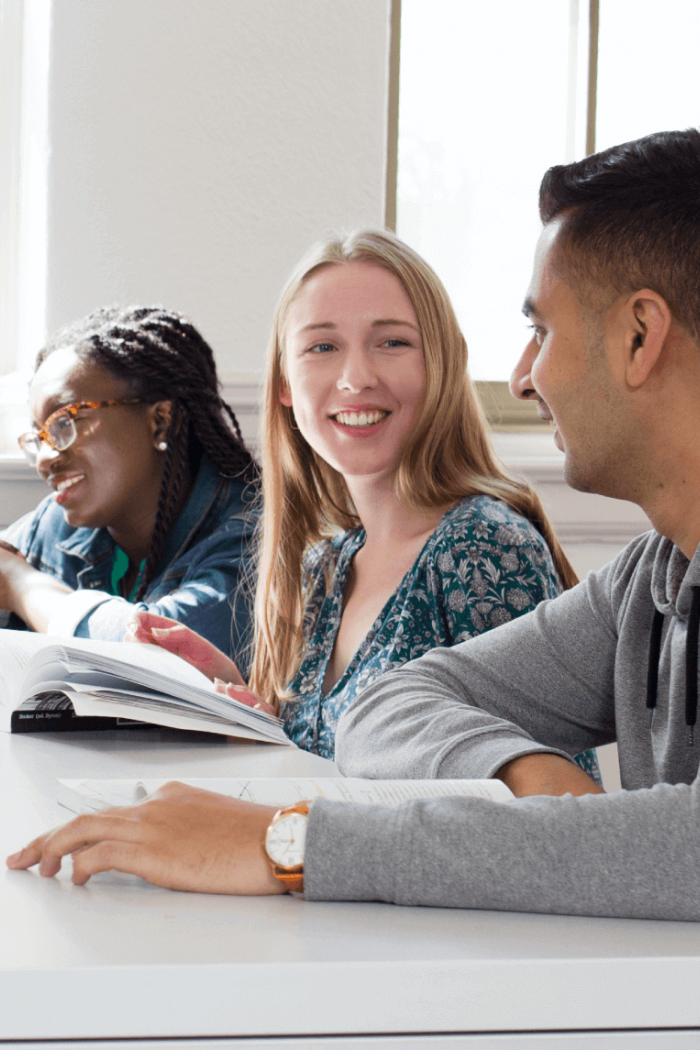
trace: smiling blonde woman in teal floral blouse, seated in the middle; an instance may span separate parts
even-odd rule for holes
[[[317,245],[275,312],[250,689],[186,628],[131,636],[280,712],[334,756],[384,671],[532,610],[577,581],[539,499],[499,462],[442,284],[385,231]],[[252,695],[251,695],[252,694]],[[579,764],[596,774],[594,753]]]

